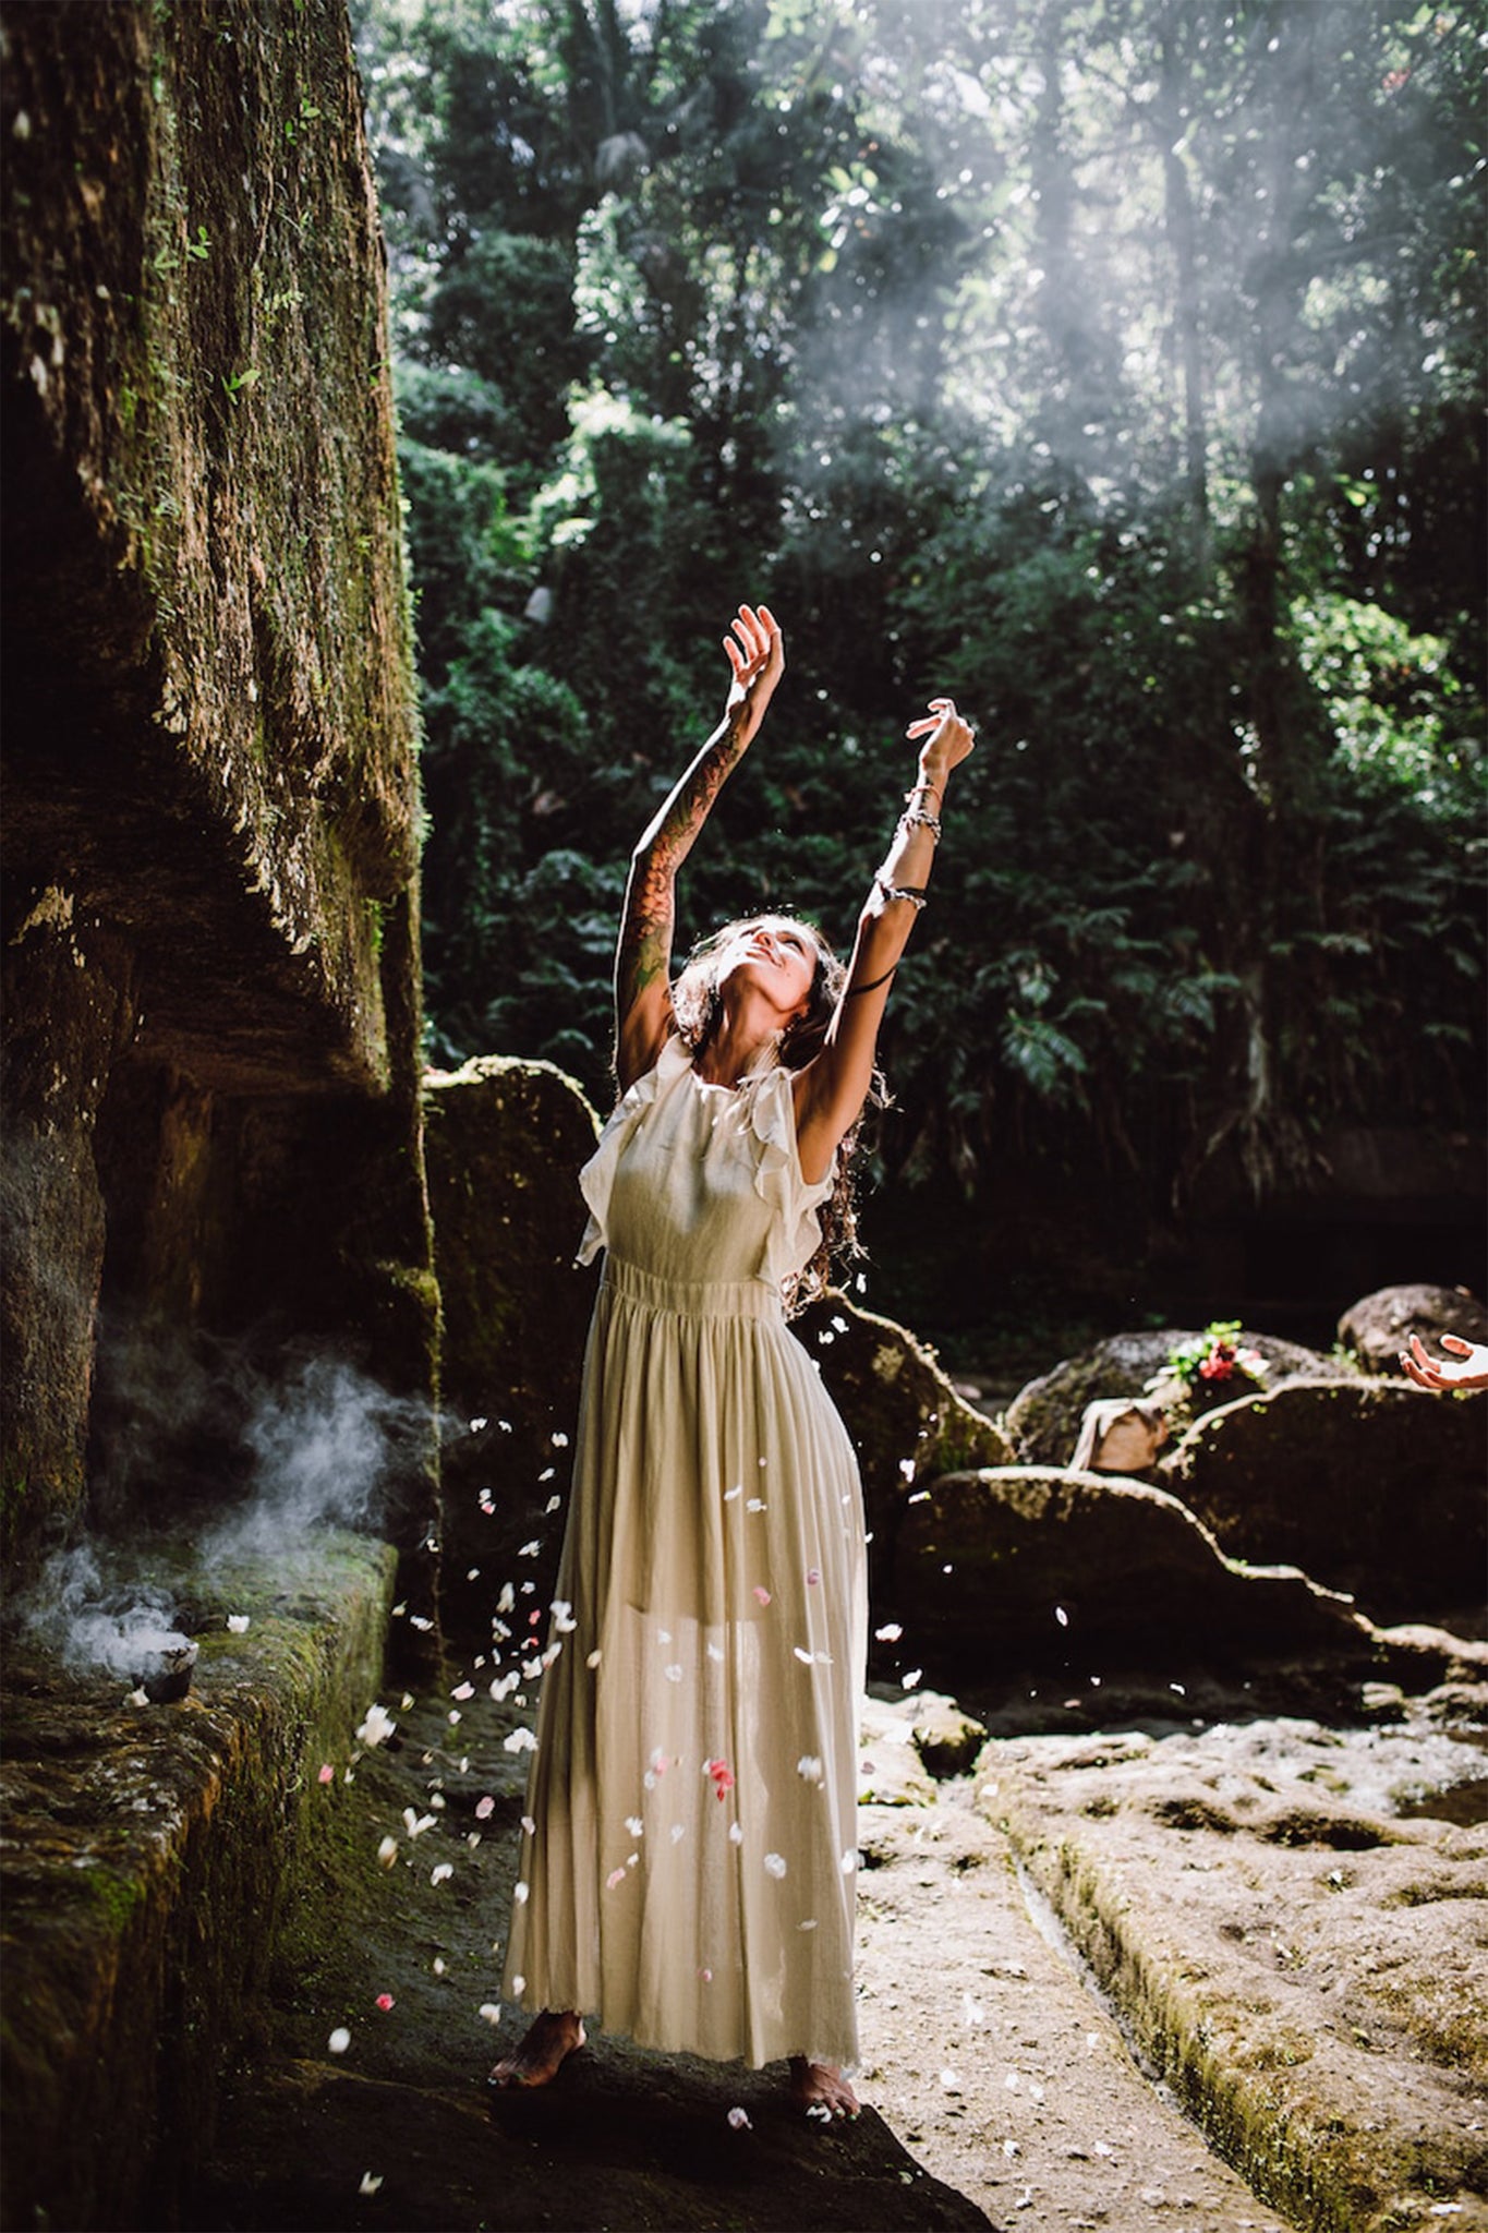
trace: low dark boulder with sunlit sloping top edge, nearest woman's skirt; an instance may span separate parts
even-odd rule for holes
[[[1202,1648],[1243,1664],[1356,1646],[1347,1601],[1294,1568],[1227,1559],[1167,1489],[1109,1474],[999,1465],[948,1474],[899,1530],[895,1601],[935,1664],[1084,1675]]]

